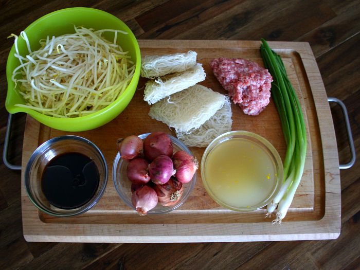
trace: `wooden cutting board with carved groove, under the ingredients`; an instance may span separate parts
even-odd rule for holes
[[[262,64],[258,41],[139,40],[142,56],[194,50],[207,77],[201,84],[222,94],[209,61],[217,57],[245,58]],[[139,217],[116,193],[112,181],[116,139],[132,134],[165,131],[167,125],[148,116],[142,100],[145,79],[140,79],[134,98],[116,119],[87,132],[50,129],[28,116],[23,169],[32,152],[44,141],[73,134],[93,141],[104,153],[109,167],[106,190],[99,203],[72,218],[55,218],[39,211],[26,195],[22,181],[22,217],[27,241],[47,242],[232,242],[334,239],[340,233],[340,177],[336,139],[329,104],[310,45],[302,42],[269,42],[282,57],[297,91],[305,116],[308,151],[304,174],[294,201],[281,225],[265,218],[265,209],[238,213],[217,205],[206,193],[200,172],[189,199],[168,214]],[[232,104],[232,130],[255,132],[269,140],[284,158],[283,139],[276,107],[271,103],[259,116],[247,116]],[[191,148],[201,160],[205,148]],[[24,170],[22,171],[24,179]]]

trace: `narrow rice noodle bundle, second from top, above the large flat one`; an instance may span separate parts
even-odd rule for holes
[[[181,73],[174,73],[157,78],[155,81],[148,81],[144,90],[144,100],[149,105],[154,104],[165,97],[204,81],[205,77],[206,74],[202,64],[197,63]]]

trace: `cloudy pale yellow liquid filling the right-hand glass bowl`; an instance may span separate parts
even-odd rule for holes
[[[250,140],[226,140],[212,149],[205,162],[208,188],[229,206],[250,208],[275,188],[276,165],[269,153]]]

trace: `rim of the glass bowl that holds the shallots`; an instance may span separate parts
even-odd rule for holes
[[[145,139],[145,138],[148,137],[150,134],[151,134],[151,132],[149,132],[149,133],[143,133],[143,134],[140,134],[140,135],[137,135],[137,136],[138,136],[140,139]],[[170,135],[170,134],[168,134],[168,133],[166,133],[166,134],[170,137],[170,139],[171,139],[172,141],[174,141],[177,145],[181,146],[181,148],[182,148],[181,150],[186,151],[188,154],[194,156],[193,153],[190,151],[190,149],[189,149],[181,140],[179,140],[178,138],[175,138],[174,136],[172,136],[172,135]],[[116,181],[116,170],[117,170],[117,167],[118,167],[118,165],[119,165],[120,158],[121,158],[121,157],[120,157],[120,153],[117,152],[117,154],[116,154],[116,156],[115,156],[115,159],[114,159],[113,170],[112,170],[112,173],[113,173],[113,175],[112,175],[112,176],[113,176],[113,184],[114,184],[114,187],[115,187],[116,192],[118,193],[120,199],[125,203],[125,205],[129,206],[131,209],[133,209],[134,211],[136,211],[135,207],[134,207],[133,204],[131,203],[131,200],[128,201],[127,198],[124,198],[124,197],[123,197],[122,192],[119,191],[118,185],[117,185],[117,183],[116,183],[116,182],[117,182],[117,181]],[[195,172],[194,176],[192,177],[191,181],[190,181],[189,183],[186,183],[186,184],[190,184],[189,187],[188,187],[188,188],[189,188],[189,191],[188,191],[188,193],[187,193],[187,196],[184,197],[184,199],[182,200],[181,203],[174,204],[172,207],[170,207],[170,208],[168,208],[168,209],[165,208],[164,210],[157,210],[156,212],[152,212],[152,211],[153,211],[153,209],[152,209],[152,210],[150,210],[147,214],[166,214],[166,213],[169,213],[169,212],[175,210],[176,208],[182,206],[182,205],[186,202],[186,200],[188,199],[190,193],[192,192],[192,190],[193,190],[194,187],[195,187],[195,184],[196,184],[196,172]],[[183,184],[183,185],[186,185],[186,184]],[[184,194],[183,194],[183,196],[184,196]]]

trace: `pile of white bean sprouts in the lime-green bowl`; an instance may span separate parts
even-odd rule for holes
[[[104,32],[115,32],[114,41],[102,37]],[[13,71],[15,87],[26,104],[16,106],[36,110],[45,115],[68,118],[97,112],[115,101],[129,85],[135,64],[129,53],[117,44],[120,30],[94,30],[75,27],[75,33],[41,40],[41,48],[19,53],[15,37],[15,57],[20,65]]]

